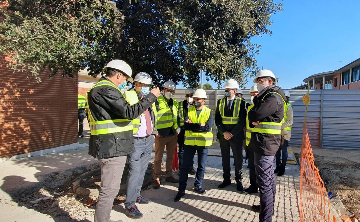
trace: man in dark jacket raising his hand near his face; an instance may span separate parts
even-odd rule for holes
[[[135,119],[156,101],[160,91],[153,89],[139,103],[130,105],[119,86],[132,81],[130,66],[122,60],[112,60],[104,67],[100,78],[87,92],[90,124],[89,154],[97,158],[101,168],[99,198],[94,222],[109,222],[115,196],[120,189],[126,155],[134,153],[133,126]]]

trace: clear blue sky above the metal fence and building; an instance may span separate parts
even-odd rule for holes
[[[360,58],[359,0],[284,0],[283,11],[271,20],[273,34],[252,42],[261,45],[258,66],[273,71],[284,89]]]

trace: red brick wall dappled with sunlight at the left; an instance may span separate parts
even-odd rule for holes
[[[78,142],[78,77],[26,79],[0,54],[0,158]]]

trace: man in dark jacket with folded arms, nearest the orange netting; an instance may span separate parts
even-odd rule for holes
[[[249,110],[249,126],[252,129],[249,149],[254,151],[256,182],[260,190],[260,205],[252,209],[260,212],[260,222],[271,222],[274,212],[276,180],[274,159],[281,142],[281,126],[284,118],[286,96],[275,86],[275,75],[263,69],[255,76],[259,94]]]

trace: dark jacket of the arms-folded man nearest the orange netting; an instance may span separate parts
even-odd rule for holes
[[[249,125],[254,127],[252,122],[275,122],[279,123],[284,118],[284,101],[275,93],[266,95],[269,92],[279,93],[286,101],[283,90],[274,85],[267,86],[253,99],[254,107],[248,113]],[[265,96],[266,95],[266,96]],[[262,100],[262,101],[261,101]],[[255,153],[275,156],[281,142],[281,135],[268,133],[251,133],[249,149]]]

